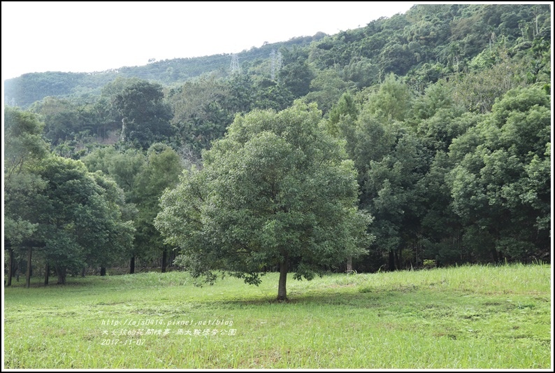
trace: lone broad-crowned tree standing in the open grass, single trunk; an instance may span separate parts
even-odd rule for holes
[[[257,284],[277,266],[287,300],[288,272],[312,279],[363,253],[370,218],[356,208],[356,171],[321,116],[297,102],[238,117],[203,153],[203,169],[164,193],[154,225],[193,276],[224,270]]]

